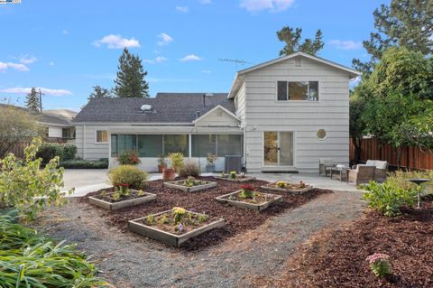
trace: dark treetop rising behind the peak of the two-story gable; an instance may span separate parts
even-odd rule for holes
[[[323,34],[320,29],[316,32],[314,39],[306,38],[303,42],[302,28],[290,28],[284,26],[280,31],[277,31],[278,40],[285,43],[284,48],[280,51],[280,56],[286,56],[297,51],[303,51],[312,55],[316,55],[325,43],[322,41]]]

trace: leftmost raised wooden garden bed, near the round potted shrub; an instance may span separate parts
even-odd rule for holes
[[[116,210],[123,209],[126,207],[131,207],[135,205],[140,205],[152,200],[156,200],[156,194],[142,192],[138,190],[130,190],[130,195],[127,197],[122,197],[119,200],[112,200],[111,196],[115,192],[109,192],[104,194],[99,194],[95,196],[88,197],[88,201],[102,209]]]

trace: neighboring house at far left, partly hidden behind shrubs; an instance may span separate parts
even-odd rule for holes
[[[75,126],[71,124],[77,112],[67,109],[43,110],[40,123],[47,128],[49,139],[74,143]]]

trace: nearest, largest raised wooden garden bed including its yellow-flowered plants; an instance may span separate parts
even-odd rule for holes
[[[174,221],[173,209],[130,220],[128,221],[128,229],[170,246],[179,247],[192,237],[197,237],[211,229],[226,226],[226,221],[223,218],[211,218],[188,210],[185,212],[185,218],[182,220],[182,231],[180,231],[179,225],[170,223]]]

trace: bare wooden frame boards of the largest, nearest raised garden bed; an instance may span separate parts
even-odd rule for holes
[[[171,212],[171,210],[167,210],[167,211],[163,211],[161,213],[157,213],[157,214],[153,214],[153,217],[157,217],[161,214],[164,213],[169,213]],[[189,213],[193,213],[193,214],[199,214],[199,213],[195,213],[192,211],[187,211]],[[147,226],[145,224],[143,224],[143,220],[146,217],[143,218],[136,218],[134,220],[130,220],[128,221],[128,229],[134,233],[143,235],[145,237],[150,237],[152,239],[161,241],[165,244],[168,244],[170,246],[176,246],[179,247],[181,246],[183,243],[187,242],[190,238],[192,237],[196,237],[200,234],[205,233],[206,231],[215,229],[215,228],[223,228],[226,226],[226,221],[223,218],[217,219],[213,222],[210,222],[209,224],[206,224],[200,228],[196,228],[194,230],[191,230],[185,234],[180,234],[180,235],[176,235],[176,234],[172,234],[170,232],[166,232],[164,230],[161,230],[159,228],[154,228],[152,226]]]

